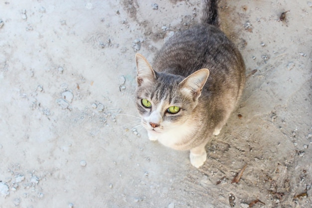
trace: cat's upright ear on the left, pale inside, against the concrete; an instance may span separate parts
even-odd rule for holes
[[[140,53],[136,54],[137,63],[137,83],[141,86],[143,83],[154,82],[156,80],[155,71],[152,69],[146,58]]]

